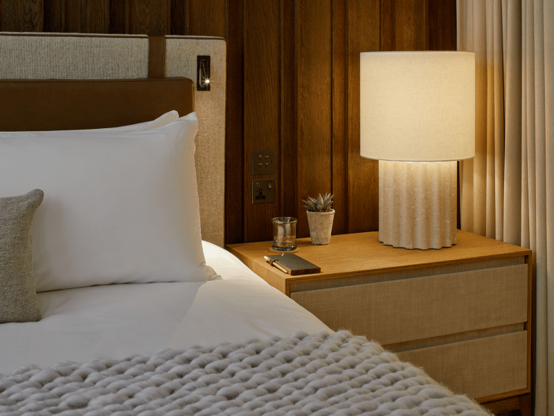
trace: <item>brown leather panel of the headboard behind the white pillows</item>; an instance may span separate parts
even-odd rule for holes
[[[111,128],[194,111],[189,78],[0,80],[0,131]]]

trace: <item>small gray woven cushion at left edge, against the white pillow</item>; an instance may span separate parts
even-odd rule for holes
[[[41,318],[30,225],[42,198],[44,193],[40,189],[0,198],[0,324],[35,322]]]

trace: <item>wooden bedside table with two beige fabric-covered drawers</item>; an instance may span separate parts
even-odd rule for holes
[[[377,341],[493,413],[530,415],[531,251],[460,230],[457,241],[406,250],[378,232],[297,239],[296,254],[321,272],[294,276],[264,260],[271,241],[227,249],[334,331]]]

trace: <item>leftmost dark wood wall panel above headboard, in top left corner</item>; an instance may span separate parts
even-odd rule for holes
[[[43,0],[0,0],[0,31],[42,31],[43,4]]]

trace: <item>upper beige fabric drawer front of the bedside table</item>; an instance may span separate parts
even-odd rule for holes
[[[331,329],[382,345],[527,321],[528,266],[291,293]]]

